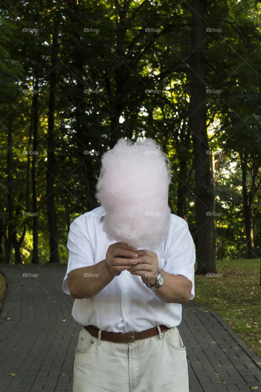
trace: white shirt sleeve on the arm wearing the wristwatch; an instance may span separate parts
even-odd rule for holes
[[[165,255],[164,271],[173,275],[183,275],[192,282],[190,299],[195,297],[194,265],[196,261],[195,246],[188,225],[182,227],[178,237],[173,236]]]

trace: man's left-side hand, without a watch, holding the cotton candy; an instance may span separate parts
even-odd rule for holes
[[[129,270],[137,264],[137,249],[123,242],[116,242],[108,247],[106,252],[106,269],[112,276],[120,275],[121,271]]]

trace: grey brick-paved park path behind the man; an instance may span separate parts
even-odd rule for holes
[[[1,264],[0,271],[8,284],[0,317],[0,390],[72,392],[82,326],[71,316],[73,298],[62,291],[66,266]],[[178,329],[191,392],[261,391],[261,359],[216,312],[189,301]]]

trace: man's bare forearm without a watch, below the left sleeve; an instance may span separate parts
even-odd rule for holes
[[[102,260],[90,267],[77,268],[69,272],[67,282],[73,298],[92,298],[114,278],[108,272],[106,261]]]

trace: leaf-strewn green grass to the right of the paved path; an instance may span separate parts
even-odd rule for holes
[[[195,275],[195,301],[215,310],[261,357],[260,261],[218,260],[217,274]]]

